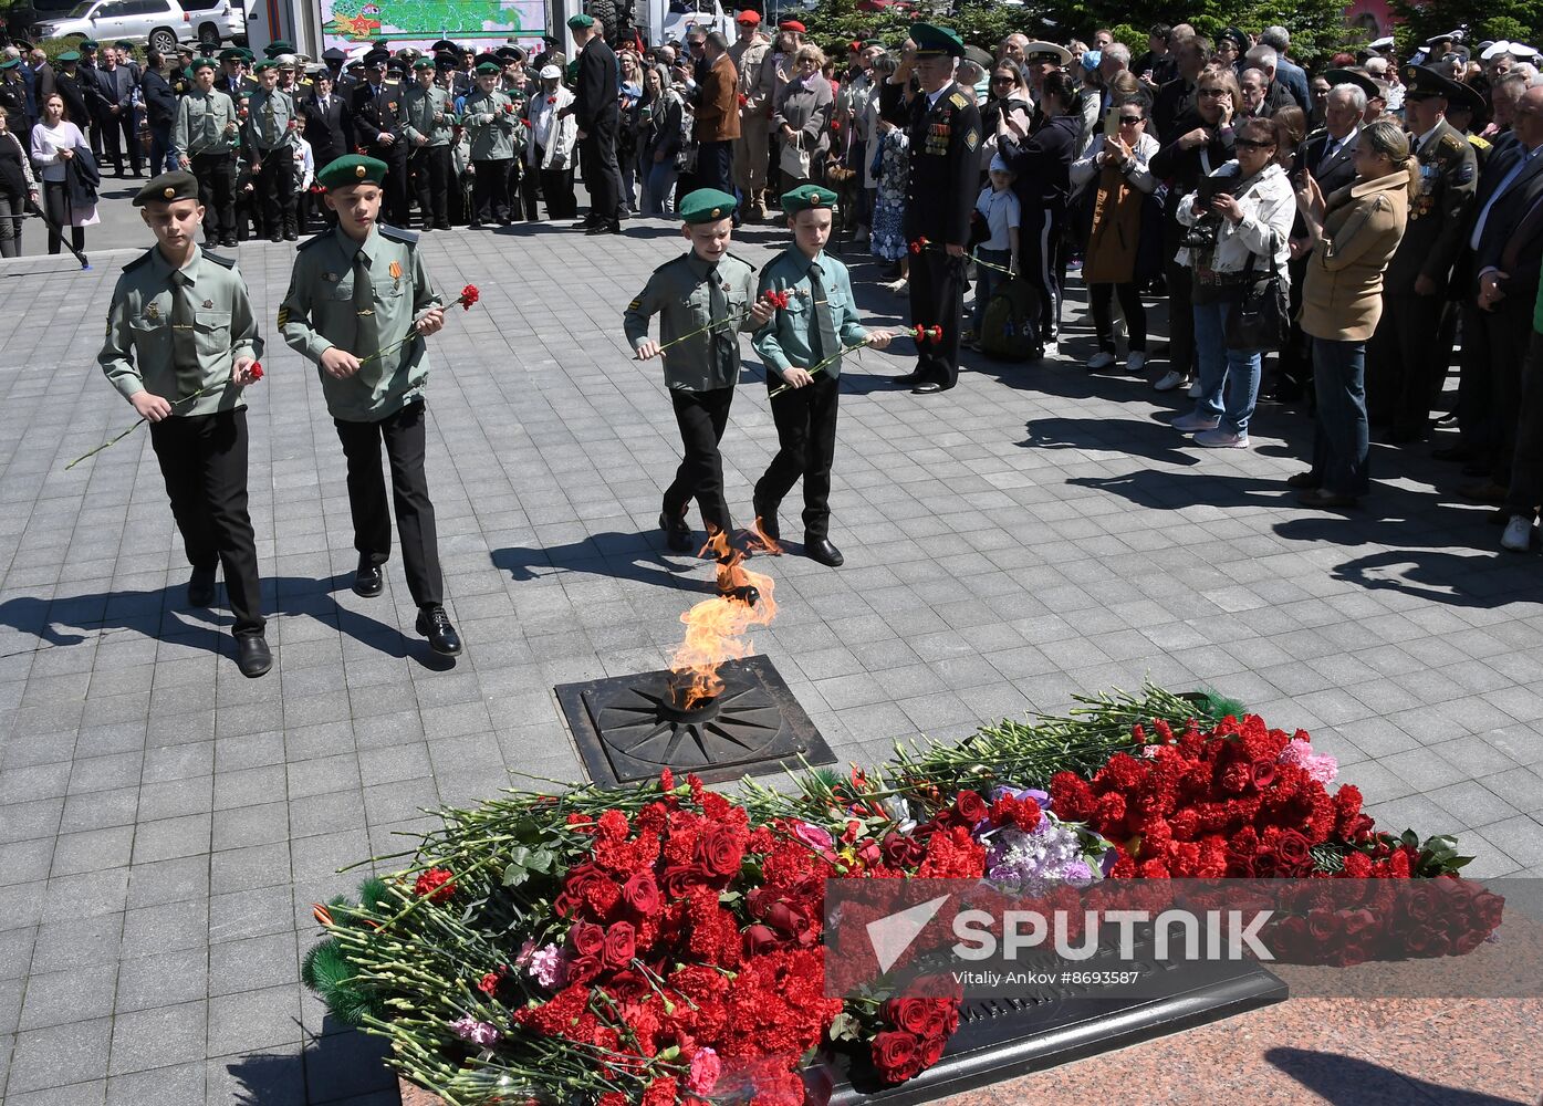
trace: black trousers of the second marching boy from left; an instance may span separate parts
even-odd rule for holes
[[[347,423],[341,418],[332,421],[349,461],[349,511],[353,514],[353,548],[360,551],[360,561],[384,565],[390,560],[390,514],[386,511],[386,477],[381,472],[384,441],[407,592],[418,606],[441,605],[444,577],[440,572],[440,535],[434,526],[429,478],[423,470],[423,400],[375,423]]]

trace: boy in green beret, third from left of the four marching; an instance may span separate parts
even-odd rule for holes
[[[728,424],[739,379],[741,330],[756,330],[772,318],[770,301],[755,299],[755,267],[728,251],[738,201],[716,188],[687,194],[677,211],[680,234],[691,251],[667,261],[648,278],[648,285],[626,305],[625,332],[637,358],[648,361],[663,352],[665,384],[674,404],[685,457],[665,489],[659,526],[674,552],[691,549],[691,524],[685,514],[696,498],[711,538],[733,534],[724,500],[724,460],[717,443]],[[659,315],[659,341],[648,336],[648,319]],[[699,327],[713,330],[660,350],[673,338]]]

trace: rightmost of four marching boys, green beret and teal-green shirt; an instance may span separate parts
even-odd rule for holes
[[[756,481],[756,528],[778,541],[776,511],[798,478],[804,478],[804,552],[832,568],[842,563],[830,543],[830,460],[836,449],[836,403],[841,356],[847,346],[889,346],[887,330],[858,322],[847,267],[826,253],[830,205],[836,194],[801,185],[782,194],[793,244],[761,273],[761,295],[788,293],[787,307],[756,332],[755,349],[767,366],[767,387],[787,390],[772,400],[781,449]],[[818,373],[809,370],[835,358]]]

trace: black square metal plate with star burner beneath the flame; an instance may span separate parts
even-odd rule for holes
[[[693,711],[674,705],[668,669],[554,688],[589,779],[628,784],[670,768],[725,784],[799,756],[836,762],[770,657],[727,660],[717,674],[722,694]]]

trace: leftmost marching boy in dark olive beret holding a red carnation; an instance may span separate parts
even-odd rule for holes
[[[225,566],[236,666],[273,666],[262,637],[258,549],[247,514],[247,403],[262,339],[236,262],[199,250],[204,208],[191,173],[162,173],[134,196],[156,245],[123,267],[106,316],[102,372],[150,423],[193,577],[188,603],[214,602]],[[196,396],[196,398],[194,398]]]

